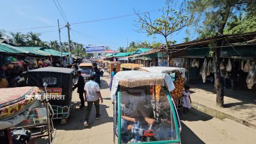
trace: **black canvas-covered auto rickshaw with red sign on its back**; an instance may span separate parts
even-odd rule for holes
[[[58,95],[59,99],[50,99],[54,115],[52,119],[61,119],[61,124],[67,124],[73,105],[72,99],[72,72],[71,68],[45,67],[28,71],[29,86],[38,86],[44,89],[43,84],[47,83],[47,93]]]

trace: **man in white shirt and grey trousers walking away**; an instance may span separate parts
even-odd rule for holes
[[[91,80],[88,81],[84,86],[84,99],[87,101],[88,105],[86,109],[84,127],[89,126],[89,116],[93,104],[96,108],[96,120],[100,118],[100,102],[102,103],[103,99],[101,97],[99,84],[95,82],[95,78],[96,76],[93,75]]]

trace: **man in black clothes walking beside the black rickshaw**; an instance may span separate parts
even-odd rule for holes
[[[75,90],[77,88],[77,93],[79,93],[79,99],[81,100],[81,105],[79,109],[83,109],[84,108],[84,77],[81,75],[81,71],[77,72],[77,76],[78,76],[78,81],[77,84],[74,85],[74,87],[72,88],[72,90]]]

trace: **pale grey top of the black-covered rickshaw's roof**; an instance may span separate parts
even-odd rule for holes
[[[35,70],[29,70],[28,72],[59,72],[63,74],[72,74],[74,70],[72,68],[62,68],[62,67],[44,67],[37,68]]]

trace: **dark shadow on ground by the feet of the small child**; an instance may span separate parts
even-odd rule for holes
[[[180,120],[188,121],[188,122],[195,122],[195,121],[207,121],[211,120],[213,117],[198,111],[197,109],[191,108],[186,113],[183,113],[183,109],[179,109],[179,116]]]

